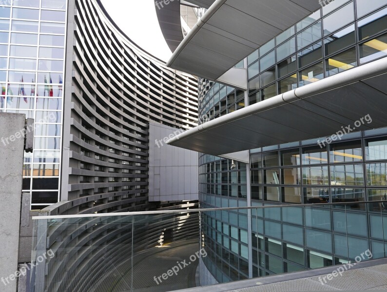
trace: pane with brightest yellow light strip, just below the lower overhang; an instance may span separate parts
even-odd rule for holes
[[[329,155],[331,163],[362,161],[361,141],[331,144]]]

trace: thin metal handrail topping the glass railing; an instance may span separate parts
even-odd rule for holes
[[[312,204],[281,204],[281,205],[265,205],[265,206],[249,206],[249,207],[228,207],[228,208],[207,208],[207,209],[180,209],[180,210],[164,210],[164,211],[139,211],[139,212],[121,212],[121,213],[98,213],[98,214],[76,214],[76,215],[54,215],[54,216],[33,216],[33,220],[39,219],[69,219],[69,218],[89,218],[89,217],[115,217],[115,216],[134,216],[134,215],[156,215],[156,214],[180,214],[194,212],[210,212],[210,211],[232,211],[232,210],[252,210],[265,208],[290,208],[290,207],[316,207],[327,205],[349,205],[349,204],[368,204],[380,203],[387,201],[350,201],[350,202],[335,202],[335,203],[312,203]],[[271,202],[265,202],[271,203]]]

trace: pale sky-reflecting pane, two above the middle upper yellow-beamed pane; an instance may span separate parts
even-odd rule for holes
[[[353,2],[324,18],[324,36],[355,20]]]

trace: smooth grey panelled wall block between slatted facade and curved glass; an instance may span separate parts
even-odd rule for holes
[[[182,130],[149,125],[149,201],[198,200],[198,154],[166,145],[174,132]]]

